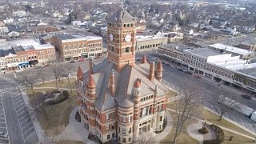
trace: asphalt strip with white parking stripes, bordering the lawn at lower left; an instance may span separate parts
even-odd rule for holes
[[[6,120],[9,126],[10,142],[24,144],[38,142],[38,136],[20,90],[5,92],[2,94],[2,99],[5,110],[8,110]]]

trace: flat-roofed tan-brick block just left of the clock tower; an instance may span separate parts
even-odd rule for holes
[[[61,61],[102,56],[102,38],[94,36],[60,34],[50,38]]]

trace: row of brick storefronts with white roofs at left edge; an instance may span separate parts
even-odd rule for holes
[[[55,60],[54,46],[34,39],[2,42],[0,47],[0,70],[20,70]]]

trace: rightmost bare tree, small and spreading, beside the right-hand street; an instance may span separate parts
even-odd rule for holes
[[[236,97],[233,95],[228,98],[225,94],[222,94],[222,90],[219,90],[218,94],[218,102],[213,105],[214,110],[218,113],[219,121],[222,120],[222,116],[226,114],[228,111],[232,110],[234,107],[238,106],[238,102],[236,102]]]

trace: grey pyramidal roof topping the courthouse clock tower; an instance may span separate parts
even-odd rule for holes
[[[109,22],[135,22],[135,18],[126,9],[119,8],[111,15]]]

